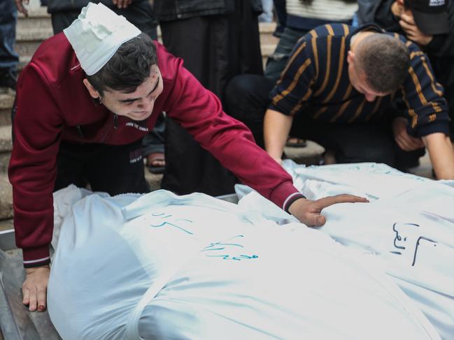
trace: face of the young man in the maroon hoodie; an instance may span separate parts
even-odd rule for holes
[[[101,101],[111,112],[141,121],[150,117],[155,100],[162,93],[162,89],[161,73],[159,68],[153,65],[150,68],[150,77],[140,84],[136,91],[127,94],[122,91],[108,89],[104,91],[104,96],[101,96]],[[90,91],[90,94],[97,98],[97,91],[95,94]]]

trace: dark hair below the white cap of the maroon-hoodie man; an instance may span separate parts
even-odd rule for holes
[[[107,64],[94,75],[87,75],[87,80],[101,96],[108,89],[131,93],[150,77],[150,68],[155,64],[155,43],[141,33],[118,47]]]

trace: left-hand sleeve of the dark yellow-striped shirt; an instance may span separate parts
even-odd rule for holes
[[[281,73],[281,78],[271,90],[269,109],[293,116],[302,103],[311,96],[311,86],[316,77],[316,39],[315,31],[301,38],[290,54],[290,59]],[[308,57],[312,55],[313,57]]]

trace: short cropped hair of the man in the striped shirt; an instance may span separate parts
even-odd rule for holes
[[[371,34],[357,45],[355,60],[371,89],[381,94],[396,91],[410,68],[410,52],[399,39]]]

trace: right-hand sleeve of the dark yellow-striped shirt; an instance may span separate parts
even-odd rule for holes
[[[449,134],[448,105],[427,56],[407,41],[411,66],[402,84],[402,98],[409,118],[409,133],[417,137],[431,133]]]

